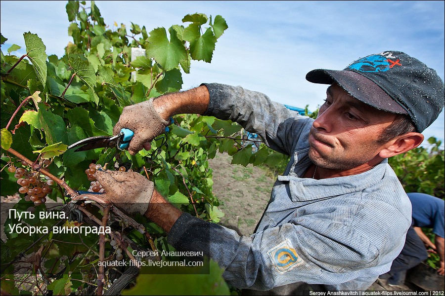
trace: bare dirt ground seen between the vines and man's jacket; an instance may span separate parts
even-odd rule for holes
[[[213,193],[225,214],[221,224],[239,234],[250,235],[266,209],[275,178],[258,166],[230,164],[231,159],[226,153],[217,153],[209,160]]]

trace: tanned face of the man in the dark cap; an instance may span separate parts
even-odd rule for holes
[[[309,157],[320,168],[344,172],[367,170],[379,163],[382,132],[396,115],[372,108],[333,84],[312,124]]]

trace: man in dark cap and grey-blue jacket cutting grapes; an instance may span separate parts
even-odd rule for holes
[[[140,174],[95,176],[108,199],[159,224],[177,250],[216,260],[234,287],[268,295],[366,289],[390,269],[411,225],[411,204],[387,158],[422,143],[444,107],[444,82],[398,51],[306,78],[330,85],[315,120],[262,93],[203,84],[126,107],[114,128],[134,131],[135,154],[170,116],[198,113],[236,121],[290,155],[250,237],[182,213]]]

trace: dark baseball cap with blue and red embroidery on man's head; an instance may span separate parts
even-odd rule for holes
[[[378,110],[406,114],[419,133],[444,108],[444,81],[435,70],[401,51],[369,55],[341,71],[312,70],[306,79],[321,84],[336,82]]]

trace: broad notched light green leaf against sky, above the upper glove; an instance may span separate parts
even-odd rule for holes
[[[187,59],[184,44],[178,39],[173,28],[169,29],[170,41],[165,28],[157,28],[150,32],[147,41],[147,55],[164,69],[172,70],[178,67],[179,62]]]

